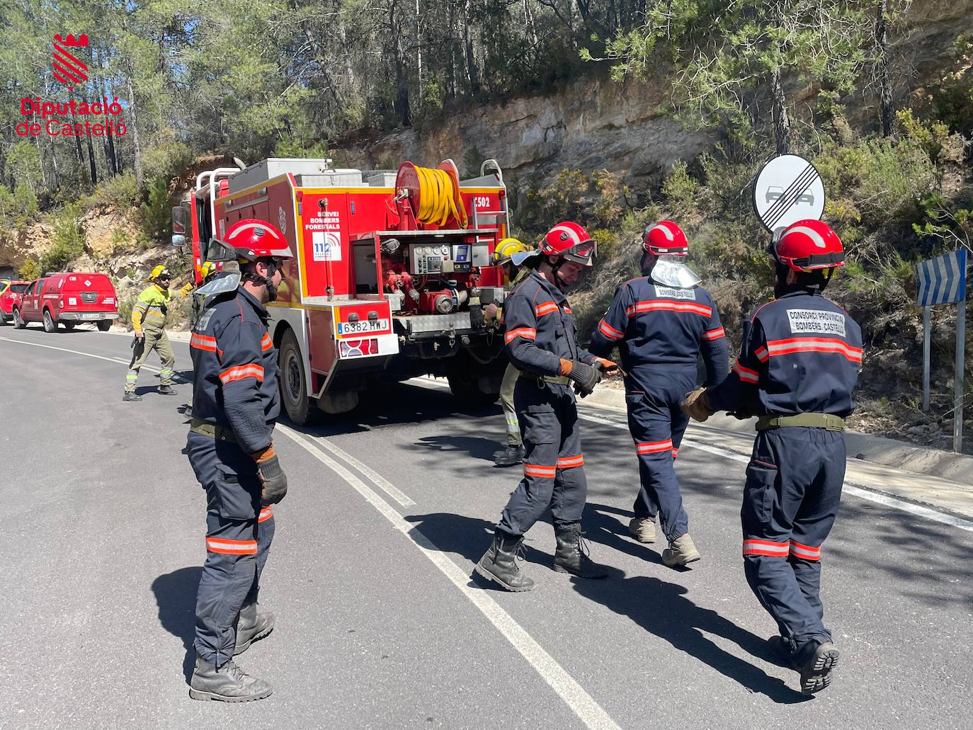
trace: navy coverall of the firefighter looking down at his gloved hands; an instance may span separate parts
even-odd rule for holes
[[[507,357],[522,372],[514,388],[514,407],[524,456],[523,479],[497,528],[522,535],[549,505],[555,523],[581,522],[588,494],[585,456],[574,392],[566,378],[559,378],[560,360],[598,367],[597,358],[578,346],[567,299],[537,272],[507,297],[503,317]]]

